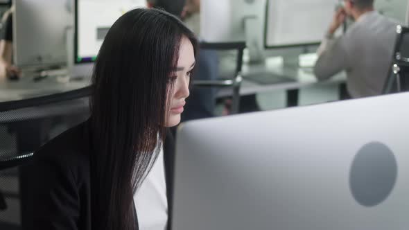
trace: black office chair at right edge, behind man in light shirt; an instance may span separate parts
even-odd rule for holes
[[[409,28],[397,26],[392,62],[382,94],[409,91]]]

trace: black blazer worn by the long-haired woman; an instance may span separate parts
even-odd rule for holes
[[[91,213],[90,134],[89,121],[86,121],[35,152],[33,229],[92,230],[92,222],[98,222],[92,220]],[[172,217],[174,140],[173,134],[168,132],[164,143],[168,229]]]

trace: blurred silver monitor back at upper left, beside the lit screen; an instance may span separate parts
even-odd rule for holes
[[[66,29],[72,24],[70,1],[13,1],[13,59],[17,67],[66,64]]]

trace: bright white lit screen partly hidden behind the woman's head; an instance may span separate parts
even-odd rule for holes
[[[74,24],[75,63],[94,62],[108,30],[116,19],[146,0],[76,0]]]

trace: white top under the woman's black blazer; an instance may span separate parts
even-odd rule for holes
[[[146,179],[134,195],[139,229],[164,230],[168,222],[168,201],[163,148]]]

